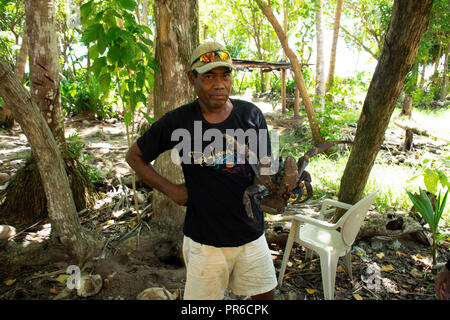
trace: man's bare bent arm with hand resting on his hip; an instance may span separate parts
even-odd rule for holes
[[[188,194],[184,184],[174,184],[161,176],[150,163],[147,163],[138,145],[134,143],[127,152],[125,160],[131,168],[144,180],[144,182],[164,193],[177,204],[186,205]]]

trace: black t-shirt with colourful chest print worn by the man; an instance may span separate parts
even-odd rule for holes
[[[254,175],[248,161],[242,162],[236,154],[230,158],[229,152],[220,152],[220,144],[211,148],[213,142],[220,140],[220,134],[230,135],[233,130],[242,129],[241,136],[242,132],[249,133],[245,141],[250,148],[255,146],[256,136],[258,148],[265,144],[263,155],[270,154],[267,125],[261,110],[250,102],[235,99],[231,102],[230,115],[217,124],[203,118],[198,100],[178,107],[153,123],[137,141],[147,162],[166,150],[178,150],[188,190],[183,232],[196,242],[216,247],[240,246],[264,232],[261,210],[254,208],[258,220],[255,222],[247,216],[243,205],[244,191],[253,183]],[[261,139],[264,141],[260,143]],[[225,142],[223,151],[226,151]],[[253,151],[258,154],[259,149]]]

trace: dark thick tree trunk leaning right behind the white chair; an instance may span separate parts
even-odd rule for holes
[[[396,101],[413,66],[427,29],[433,0],[395,0],[385,45],[358,120],[352,152],[342,176],[339,201],[361,199],[375,157],[383,142]],[[336,212],[337,221],[342,211]]]

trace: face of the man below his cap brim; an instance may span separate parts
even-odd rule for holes
[[[200,102],[208,109],[221,108],[231,92],[231,70],[226,67],[212,69],[196,77],[189,72],[189,80],[194,85]]]

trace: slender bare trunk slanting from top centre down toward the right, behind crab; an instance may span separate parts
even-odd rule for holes
[[[297,56],[292,51],[292,49],[289,47],[288,41],[286,39],[286,35],[284,34],[283,30],[281,29],[280,24],[278,23],[278,20],[273,15],[272,9],[270,5],[263,4],[262,1],[257,0],[256,3],[258,4],[259,8],[262,10],[264,15],[267,17],[267,20],[272,24],[278,39],[281,42],[281,45],[284,49],[284,52],[286,53],[287,57],[291,61],[292,67],[294,69],[294,75],[295,75],[295,84],[300,91],[300,95],[303,99],[303,104],[305,105],[306,114],[308,116],[309,126],[311,127],[311,132],[314,140],[314,145],[318,146],[322,144],[323,138],[320,135],[320,129],[319,124],[317,123],[317,115],[314,112],[314,108],[311,102],[311,98],[308,95],[308,91],[306,90],[306,84],[305,79],[302,75],[302,70],[300,63],[298,61]]]

